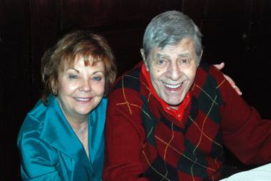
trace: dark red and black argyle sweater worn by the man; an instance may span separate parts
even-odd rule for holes
[[[242,162],[271,161],[271,122],[216,68],[198,68],[178,121],[150,93],[141,66],[121,76],[108,98],[104,181],[219,180],[223,145]]]

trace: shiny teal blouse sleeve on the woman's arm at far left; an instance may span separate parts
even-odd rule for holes
[[[22,180],[61,180],[56,170],[56,153],[39,139],[38,130],[21,130],[18,148],[21,154]]]

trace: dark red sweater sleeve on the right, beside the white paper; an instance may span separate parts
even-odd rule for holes
[[[263,120],[255,108],[237,95],[222,74],[213,69],[223,98],[220,108],[223,143],[241,162],[271,162],[271,121]]]

